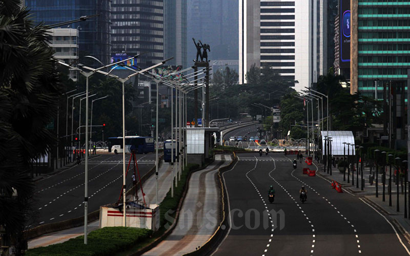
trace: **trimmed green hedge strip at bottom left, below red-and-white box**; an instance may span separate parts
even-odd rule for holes
[[[130,248],[135,243],[149,239],[151,236],[152,230],[150,229],[105,227],[90,232],[87,245],[84,244],[84,236],[80,236],[61,244],[30,249],[25,255],[114,255],[118,251]]]

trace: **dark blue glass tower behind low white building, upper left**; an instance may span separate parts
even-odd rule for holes
[[[67,22],[81,16],[99,14],[98,17],[65,26],[78,30],[78,55],[96,57],[103,63],[110,60],[111,0],[26,0],[35,23],[46,25]]]

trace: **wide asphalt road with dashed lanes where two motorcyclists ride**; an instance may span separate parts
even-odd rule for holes
[[[410,255],[406,240],[375,209],[337,193],[320,176],[303,175],[304,163],[294,170],[283,153],[238,156],[223,174],[231,228],[214,255]],[[308,190],[303,204],[301,185]]]

